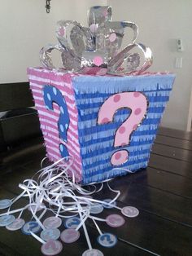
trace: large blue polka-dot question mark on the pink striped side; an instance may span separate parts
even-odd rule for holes
[[[69,126],[69,115],[68,107],[62,93],[55,86],[44,86],[43,88],[43,98],[46,104],[46,108],[49,110],[54,110],[53,104],[58,104],[60,108],[60,115],[58,120],[58,130],[59,137],[67,143],[67,131]],[[68,157],[68,148],[63,143],[59,144],[59,151],[61,157]]]

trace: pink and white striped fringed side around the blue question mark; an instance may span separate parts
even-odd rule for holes
[[[28,79],[46,144],[47,157],[49,157],[50,161],[58,161],[61,158],[59,143],[64,143],[68,148],[69,155],[73,159],[71,170],[75,172],[76,180],[81,181],[82,163],[78,139],[78,113],[72,88],[72,75],[46,68],[28,68]],[[48,110],[44,104],[42,89],[45,85],[55,86],[59,89],[68,105],[70,123],[67,143],[59,138],[58,120],[60,109],[58,104],[53,104],[54,111]]]

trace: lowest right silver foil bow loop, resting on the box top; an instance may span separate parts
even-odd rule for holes
[[[140,66],[140,56],[138,53],[131,53],[132,49],[141,50],[144,57],[142,67]],[[126,63],[125,68],[122,65]],[[153,62],[152,52],[149,47],[144,46],[142,43],[133,43],[120,51],[112,60],[108,63],[108,73],[120,75],[129,73],[142,73],[151,66]]]

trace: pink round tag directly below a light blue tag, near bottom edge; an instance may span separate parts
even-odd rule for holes
[[[47,256],[59,254],[63,249],[63,245],[59,241],[50,240],[41,246],[41,253]]]

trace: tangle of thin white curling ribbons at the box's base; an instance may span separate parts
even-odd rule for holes
[[[45,230],[45,227],[41,223],[41,218],[43,218],[47,211],[52,212],[53,214],[55,214],[56,217],[60,218],[70,218],[79,215],[81,222],[76,227],[76,230],[83,227],[87,245],[89,249],[92,249],[85,222],[88,218],[92,219],[95,227],[98,229],[98,232],[101,235],[102,232],[98,227],[96,221],[106,222],[106,219],[98,218],[91,215],[91,207],[95,203],[98,203],[101,205],[109,205],[113,208],[121,210],[120,207],[113,205],[113,203],[120,196],[120,191],[112,189],[108,183],[111,179],[107,179],[107,187],[111,192],[114,192],[116,194],[116,196],[111,199],[110,202],[104,202],[94,198],[86,197],[89,195],[93,195],[96,192],[102,191],[103,183],[101,183],[99,188],[96,188],[96,183],[89,184],[89,190],[82,188],[81,184],[75,183],[75,173],[73,171],[71,171],[72,177],[69,177],[68,175],[68,170],[70,170],[70,168],[72,167],[73,159],[69,157],[68,161],[65,160],[66,158],[60,159],[51,166],[46,166],[39,170],[37,172],[37,174],[39,174],[37,177],[37,181],[34,180],[34,177],[37,175],[35,174],[33,176],[33,179],[25,179],[24,183],[20,183],[19,187],[24,191],[19,196],[12,199],[12,201],[16,202],[22,197],[28,197],[28,205],[25,205],[23,208],[17,210],[11,210],[10,207],[6,213],[0,214],[0,216],[5,214],[15,214],[19,212],[20,218],[24,210],[27,210],[29,207],[32,213],[32,218],[34,218],[38,225],[43,230]],[[41,166],[43,165],[43,161],[41,161]],[[77,196],[76,193],[78,194]],[[44,203],[46,205],[44,205]],[[41,214],[37,214],[39,209],[43,210]],[[31,232],[31,235],[42,244],[45,243],[45,241],[43,241],[33,232]]]

